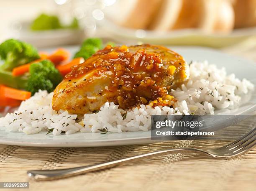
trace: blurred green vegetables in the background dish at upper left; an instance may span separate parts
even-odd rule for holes
[[[30,28],[32,31],[56,30],[61,28],[77,29],[79,28],[79,23],[76,18],[73,18],[69,25],[63,25],[56,15],[47,15],[42,13],[33,20]]]

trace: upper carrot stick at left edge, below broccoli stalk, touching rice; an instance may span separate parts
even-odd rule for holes
[[[17,99],[17,100],[26,100],[31,97],[31,92],[14,89],[11,87],[6,87],[4,85],[0,85],[0,94],[2,97]]]

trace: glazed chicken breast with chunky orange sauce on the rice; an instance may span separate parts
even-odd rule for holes
[[[72,67],[54,91],[52,108],[85,114],[105,102],[122,109],[171,106],[176,100],[168,91],[187,79],[187,69],[182,56],[163,46],[107,46]]]

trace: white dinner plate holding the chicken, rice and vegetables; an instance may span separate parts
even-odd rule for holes
[[[74,52],[77,47],[69,47]],[[219,68],[225,66],[227,72],[235,73],[240,79],[246,78],[255,84],[256,82],[256,64],[252,61],[239,57],[230,56],[210,48],[200,47],[173,47],[174,51],[180,53],[187,62],[191,60],[204,61],[208,60],[216,64]],[[211,128],[218,128],[230,125],[231,122],[237,122],[241,115],[247,115],[256,111],[256,96],[253,92],[251,96],[243,97],[243,104],[236,110],[217,110],[216,114],[233,115],[233,117],[214,122]],[[235,116],[235,117],[234,117]],[[122,133],[75,133],[72,135],[52,136],[41,132],[34,135],[26,135],[19,132],[5,132],[0,130],[0,144],[8,145],[25,145],[38,147],[96,147],[112,145],[128,145],[152,143],[150,131],[148,132],[122,132]]]

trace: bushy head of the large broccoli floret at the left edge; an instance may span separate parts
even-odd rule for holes
[[[11,71],[17,66],[39,59],[40,56],[31,44],[9,39],[0,44],[0,57],[4,61],[0,69]]]

